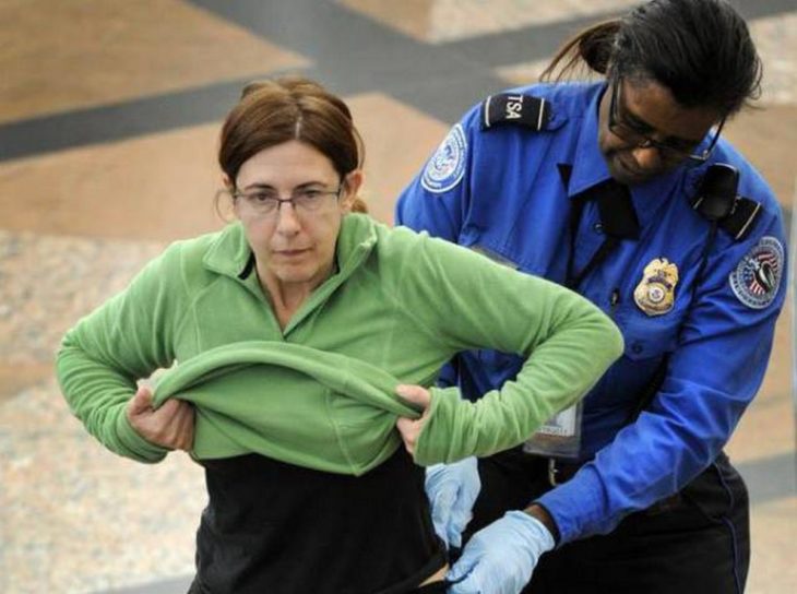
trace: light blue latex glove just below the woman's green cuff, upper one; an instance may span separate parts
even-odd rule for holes
[[[445,546],[462,546],[462,533],[473,518],[473,504],[480,489],[481,480],[475,458],[426,468],[426,495],[431,506],[431,521]]]

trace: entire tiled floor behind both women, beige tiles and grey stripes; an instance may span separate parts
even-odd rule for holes
[[[186,456],[145,466],[88,438],[52,378],[61,334],[168,241],[218,228],[221,118],[243,81],[293,71],[344,95],[366,198],[396,192],[485,94],[627,0],[0,0],[0,592],[185,591],[204,504]],[[762,109],[727,134],[790,219],[797,0],[737,0]],[[752,494],[748,592],[797,591],[790,307],[729,452]]]

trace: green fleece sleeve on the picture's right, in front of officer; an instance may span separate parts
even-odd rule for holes
[[[454,351],[526,357],[514,381],[477,402],[462,400],[456,389],[432,389],[417,463],[522,443],[583,397],[622,354],[620,331],[580,295],[439,239],[416,245],[400,281],[407,310]]]

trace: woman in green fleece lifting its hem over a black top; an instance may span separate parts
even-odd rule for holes
[[[442,592],[415,463],[522,442],[621,353],[575,294],[356,212],[361,154],[318,84],[249,85],[218,155],[237,221],[169,247],[63,340],[59,380],[92,435],[203,465],[193,593]],[[527,360],[475,403],[432,388],[411,456],[395,424],[419,413],[396,388],[471,348]]]

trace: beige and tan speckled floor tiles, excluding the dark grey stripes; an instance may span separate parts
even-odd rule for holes
[[[341,3],[432,45],[632,4],[501,0],[490,14],[502,16],[486,19],[476,0]],[[762,109],[727,134],[790,212],[797,5],[751,28],[769,76]],[[312,67],[300,51],[180,0],[0,0],[0,123]],[[538,69],[519,60],[495,74],[514,84]],[[390,222],[397,191],[448,126],[379,90],[346,98],[368,146],[366,198]],[[197,467],[179,454],[144,466],[104,451],[69,414],[51,361],[62,333],[166,243],[223,225],[213,207],[217,129],[206,122],[0,162],[0,593],[103,592],[192,571],[204,504]],[[792,461],[777,471],[790,476],[772,478],[792,489],[753,501],[751,593],[797,592],[790,319],[789,307],[729,447],[745,467]],[[766,490],[770,479],[761,480],[753,491]]]

